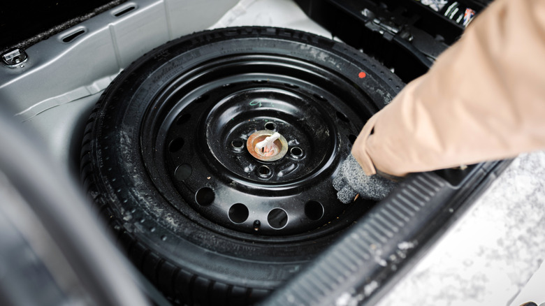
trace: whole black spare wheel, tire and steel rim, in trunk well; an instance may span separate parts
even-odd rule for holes
[[[369,210],[337,201],[331,181],[351,136],[402,87],[374,59],[321,36],[191,34],[137,59],[104,91],[85,131],[82,177],[129,258],[170,299],[255,304]],[[288,150],[263,161],[244,143],[235,149],[263,130],[304,158]],[[262,145],[266,154],[278,144]],[[247,207],[245,221],[233,203]],[[140,231],[140,219],[154,231]]]

